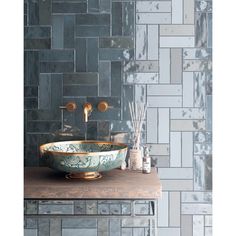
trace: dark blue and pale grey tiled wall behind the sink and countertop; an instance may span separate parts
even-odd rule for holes
[[[142,141],[158,167],[159,236],[211,235],[211,0],[25,1],[25,165],[61,139],[130,140],[128,102],[147,102]],[[98,101],[112,106],[96,110]],[[94,111],[83,122],[82,105]],[[79,129],[79,131],[78,131]],[[78,131],[78,132],[77,132]]]

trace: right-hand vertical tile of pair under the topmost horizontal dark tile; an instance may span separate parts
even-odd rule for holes
[[[75,16],[64,16],[64,48],[75,47]]]

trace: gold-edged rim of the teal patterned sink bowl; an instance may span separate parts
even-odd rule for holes
[[[109,150],[109,151],[102,151],[102,152],[62,152],[62,151],[50,151],[45,150],[47,146],[51,146],[54,144],[83,144],[83,143],[94,143],[94,144],[111,144],[115,146],[123,147],[122,149],[117,150]],[[73,141],[58,141],[58,142],[50,142],[40,145],[39,147],[41,155],[44,154],[53,154],[53,155],[64,155],[64,156],[98,156],[98,155],[104,155],[114,152],[125,152],[128,149],[128,145],[124,143],[117,143],[112,141],[97,141],[97,140],[73,140]]]

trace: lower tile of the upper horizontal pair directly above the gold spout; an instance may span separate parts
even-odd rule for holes
[[[110,26],[107,25],[80,25],[76,26],[76,37],[105,37],[110,36]]]

